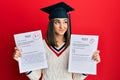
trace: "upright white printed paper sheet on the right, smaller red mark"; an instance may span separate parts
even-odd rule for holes
[[[72,34],[68,71],[96,75],[96,62],[92,60],[92,56],[97,46],[98,36],[96,35]]]

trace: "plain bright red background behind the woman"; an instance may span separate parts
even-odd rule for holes
[[[0,80],[29,80],[19,74],[12,59],[16,33],[42,30],[45,37],[48,14],[39,9],[60,0],[1,0],[0,1]],[[119,0],[63,0],[75,8],[71,12],[72,32],[99,35],[101,63],[97,75],[86,80],[120,80],[119,65]]]

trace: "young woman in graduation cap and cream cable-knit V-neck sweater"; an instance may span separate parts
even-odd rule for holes
[[[68,5],[63,2],[42,9],[50,13],[47,35],[43,41],[48,68],[26,72],[30,80],[84,80],[86,78],[87,74],[68,72],[70,27],[66,9]],[[21,53],[15,47],[14,60],[18,61],[19,57]],[[97,63],[100,62],[98,50],[95,51],[92,59]]]

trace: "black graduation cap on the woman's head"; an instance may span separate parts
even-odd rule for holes
[[[49,14],[49,19],[53,18],[68,18],[67,12],[73,11],[74,9],[64,2],[60,2],[41,9],[42,11]]]

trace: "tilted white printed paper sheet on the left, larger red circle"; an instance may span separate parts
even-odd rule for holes
[[[41,30],[15,34],[14,39],[22,54],[18,62],[20,73],[48,67]]]

